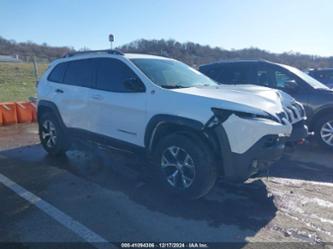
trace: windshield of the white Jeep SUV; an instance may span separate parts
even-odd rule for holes
[[[217,86],[217,83],[184,63],[166,59],[131,60],[152,82],[164,88]]]

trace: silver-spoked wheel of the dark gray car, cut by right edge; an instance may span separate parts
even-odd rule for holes
[[[325,115],[316,122],[315,139],[322,148],[333,150],[333,114]]]

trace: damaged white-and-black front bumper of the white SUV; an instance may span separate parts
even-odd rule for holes
[[[294,109],[302,110],[301,107]],[[209,124],[219,140],[223,176],[232,181],[245,181],[267,170],[281,158],[286,144],[296,143],[308,136],[304,123],[306,118],[301,113],[294,115],[297,119],[281,116],[276,121],[230,111],[215,111],[214,114],[215,122],[212,119]]]

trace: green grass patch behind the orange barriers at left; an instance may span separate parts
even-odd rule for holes
[[[47,64],[38,64],[39,75]],[[0,102],[28,100],[36,95],[32,63],[0,63]]]

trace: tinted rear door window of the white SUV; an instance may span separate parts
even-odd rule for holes
[[[94,63],[92,59],[68,62],[64,83],[91,87],[93,85]]]

